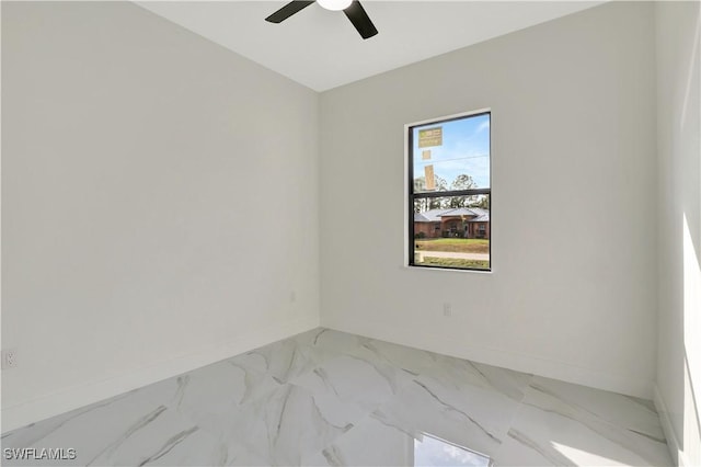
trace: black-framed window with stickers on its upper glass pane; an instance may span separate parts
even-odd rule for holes
[[[409,265],[491,271],[491,113],[406,126]]]

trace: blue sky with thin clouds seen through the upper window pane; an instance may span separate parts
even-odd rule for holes
[[[418,133],[436,127],[443,127],[443,144],[420,147]],[[416,126],[413,145],[414,179],[425,176],[426,166],[432,166],[436,180],[445,180],[447,190],[461,174],[470,175],[475,189],[490,187],[490,114]]]

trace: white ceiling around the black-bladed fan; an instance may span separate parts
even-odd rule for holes
[[[363,41],[345,14],[312,4],[280,24],[281,1],[139,1],[217,44],[324,91],[602,1],[372,1],[379,34]]]

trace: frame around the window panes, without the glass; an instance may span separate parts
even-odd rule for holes
[[[489,189],[471,189],[471,190],[448,190],[448,191],[435,191],[435,192],[424,192],[424,193],[414,193],[414,132],[413,129],[417,126],[427,126],[427,125],[439,125],[446,122],[453,122],[457,119],[464,119],[469,117],[476,117],[480,115],[489,115],[490,116],[490,128],[489,128],[489,138],[490,138],[490,187]],[[492,232],[494,229],[492,228],[492,109],[481,109],[478,111],[463,112],[460,114],[447,115],[443,117],[429,118],[422,122],[415,122],[404,125],[404,174],[405,174],[405,186],[404,186],[404,200],[405,200],[405,227],[404,231],[404,254],[405,261],[404,265],[407,267],[418,267],[425,270],[438,270],[438,271],[469,271],[469,272],[480,272],[480,273],[492,273],[494,271],[493,261],[492,261]],[[415,260],[415,243],[414,243],[414,201],[421,198],[432,198],[432,197],[450,197],[450,196],[471,196],[471,195],[480,195],[485,194],[490,197],[490,267],[489,269],[480,269],[480,267],[448,267],[448,266],[429,266],[416,264]]]

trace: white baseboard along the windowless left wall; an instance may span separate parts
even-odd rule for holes
[[[68,412],[319,327],[318,318],[246,330],[231,341],[114,378],[71,387],[0,411],[2,432]]]

